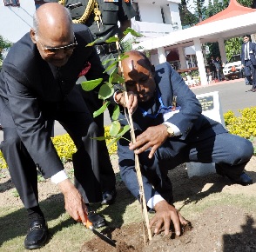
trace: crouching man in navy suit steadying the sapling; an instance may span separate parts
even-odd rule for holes
[[[127,141],[131,139],[130,132],[118,141],[120,174],[132,195],[139,198],[134,169],[134,153],[138,154],[145,201],[156,211],[151,226],[157,222],[158,233],[165,223],[168,234],[172,220],[179,235],[179,221],[184,219],[172,206],[168,169],[184,162],[215,162],[219,174],[233,183],[247,185],[252,179],[244,169],[253,156],[253,144],[203,116],[196,96],[169,63],[159,64],[154,70],[142,53],[126,54],[129,57],[122,61],[125,86],[130,96],[138,96],[138,109],[132,114],[136,142]],[[123,104],[122,93],[116,94],[115,100]],[[127,124],[124,109],[119,122]]]

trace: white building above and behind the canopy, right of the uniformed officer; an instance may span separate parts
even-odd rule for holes
[[[142,41],[149,38],[170,35],[173,31],[182,30],[179,17],[180,0],[133,0],[137,16],[131,20],[131,27],[144,35]],[[175,69],[180,69],[179,50],[165,50],[166,60]],[[187,58],[184,68],[197,66],[193,47],[185,48]],[[152,63],[158,64],[158,51],[151,51]]]

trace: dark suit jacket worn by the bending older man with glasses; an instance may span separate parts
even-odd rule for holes
[[[0,123],[17,128],[17,134],[45,177],[55,175],[63,164],[45,130],[47,116],[58,110],[84,112],[84,101],[73,89],[87,62],[88,80],[102,76],[104,68],[91,43],[90,30],[74,25],[77,48],[68,63],[56,68],[45,62],[27,33],[10,49],[0,75]],[[74,122],[75,123],[75,122]]]

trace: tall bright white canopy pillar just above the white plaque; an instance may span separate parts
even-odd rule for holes
[[[208,82],[207,82],[207,76],[205,71],[204,56],[202,53],[202,44],[199,38],[194,38],[193,41],[194,41],[197,62],[199,67],[200,82],[201,82],[201,85],[207,85]]]

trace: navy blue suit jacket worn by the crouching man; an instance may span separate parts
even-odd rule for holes
[[[175,136],[167,140],[172,146],[172,148],[169,149],[172,156],[177,156],[177,154],[185,148],[185,145],[189,143],[197,143],[209,136],[226,132],[226,129],[224,129],[220,123],[201,114],[201,105],[196,96],[192,93],[192,90],[185,85],[184,80],[172,69],[169,63],[162,63],[156,67],[155,81],[166,107],[172,105],[173,96],[177,96],[177,102],[179,106],[181,106],[179,113],[175,114],[167,121],[176,125],[182,133],[181,136]],[[139,103],[138,106],[143,106],[148,113],[155,115],[159,107],[156,101],[157,99],[153,97],[151,101]],[[162,116],[158,116],[157,118],[151,118],[149,116],[144,117],[140,109],[136,110],[132,115],[132,119],[136,136],[150,126],[163,123]],[[123,125],[127,124],[124,111],[122,111],[119,116],[119,122]],[[131,139],[130,132],[125,135],[125,138]],[[130,189],[131,193],[135,197],[138,197],[139,189],[134,170],[134,153],[129,149],[129,142],[125,139],[118,141],[118,158],[123,181],[127,188]],[[143,180],[145,199],[148,201],[155,194],[155,190],[145,176]]]

